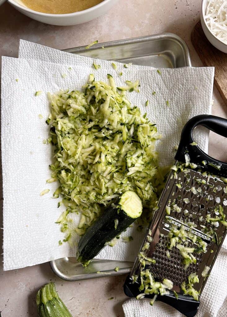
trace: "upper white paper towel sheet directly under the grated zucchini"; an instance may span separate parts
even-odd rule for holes
[[[66,54],[66,53],[65,53]],[[63,233],[55,221],[63,207],[57,209],[52,198],[57,184],[45,184],[50,177],[51,146],[44,145],[49,135],[45,124],[50,108],[47,92],[60,89],[81,89],[88,74],[97,80],[106,80],[106,74],[115,74],[111,63],[95,70],[91,63],[81,62],[72,67],[43,61],[3,57],[2,60],[2,164],[3,164],[3,225],[4,269],[21,268],[47,262],[64,256],[75,256],[76,246],[68,243],[58,246]],[[119,69],[120,71],[120,69]],[[65,76],[66,75],[66,76]],[[123,81],[139,80],[140,93],[132,92],[133,105],[147,112],[157,122],[163,139],[158,144],[162,165],[173,161],[173,148],[178,144],[183,124],[192,116],[210,113],[213,88],[213,68],[143,69],[133,66],[123,76],[115,76],[117,85]],[[16,81],[18,79],[18,81]],[[37,90],[43,93],[35,97]],[[155,96],[152,91],[156,91]],[[149,106],[145,107],[145,101]],[[169,100],[169,107],[166,101]],[[39,119],[42,114],[44,119]],[[197,136],[197,143],[207,149],[208,134]],[[50,189],[42,197],[39,193]],[[78,219],[76,219],[78,220]],[[134,261],[144,233],[129,228],[125,236],[134,241],[120,241],[107,246],[98,258]]]

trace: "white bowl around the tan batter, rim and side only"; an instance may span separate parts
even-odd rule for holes
[[[49,14],[31,10],[20,0],[8,0],[9,3],[18,11],[30,18],[53,25],[75,25],[88,22],[106,13],[118,0],[104,0],[89,9],[66,14]],[[63,0],[64,1],[64,0]]]

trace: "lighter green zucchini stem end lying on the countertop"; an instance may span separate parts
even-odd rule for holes
[[[53,282],[40,288],[36,295],[36,304],[39,317],[72,317],[58,296]]]

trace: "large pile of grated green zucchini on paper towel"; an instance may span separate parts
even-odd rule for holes
[[[55,149],[51,179],[60,183],[54,197],[63,197],[66,209],[57,223],[64,232],[69,213],[81,215],[76,233],[83,235],[103,206],[129,190],[149,210],[144,213],[149,222],[163,186],[155,151],[157,127],[126,97],[127,91],[139,91],[138,81],[116,87],[113,77],[107,77],[108,84],[90,74],[83,92],[49,94],[48,141]]]

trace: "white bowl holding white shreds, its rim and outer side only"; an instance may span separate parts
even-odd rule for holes
[[[208,27],[206,20],[204,18],[205,16],[205,10],[207,6],[207,0],[202,1],[202,8],[200,12],[200,19],[201,19],[201,24],[202,28],[204,30],[205,36],[207,37],[208,41],[216,47],[216,49],[219,49],[220,51],[227,53],[227,45],[220,41],[217,36],[213,35],[211,32],[210,28]]]

